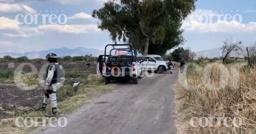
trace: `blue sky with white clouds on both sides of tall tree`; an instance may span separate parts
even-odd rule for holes
[[[93,9],[102,7],[104,1],[0,0],[0,53],[79,46],[102,50],[112,40],[107,31],[97,29],[98,20],[90,15]],[[55,14],[57,17],[65,14],[68,19],[65,25],[50,24],[48,20],[43,24],[41,17],[38,17],[38,24],[17,24],[18,14]],[[214,16],[212,22],[206,22],[211,14],[232,18],[225,20],[223,16]],[[60,19],[64,21],[64,17]],[[18,20],[24,22],[22,17]],[[198,0],[196,11],[184,20],[182,28],[186,39],[183,47],[193,51],[219,48],[231,37],[242,40],[247,46],[256,41],[256,0]]]

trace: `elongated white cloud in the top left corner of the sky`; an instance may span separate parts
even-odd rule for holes
[[[30,6],[21,5],[21,4],[9,4],[9,3],[0,3],[0,11],[4,11],[4,12],[26,11],[30,14],[33,14],[36,12]]]

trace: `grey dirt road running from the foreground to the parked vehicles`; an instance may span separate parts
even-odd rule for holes
[[[113,83],[116,90],[67,115],[66,127],[47,126],[32,134],[175,134],[177,71],[143,77],[137,85]]]

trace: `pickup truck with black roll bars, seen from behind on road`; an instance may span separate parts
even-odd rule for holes
[[[106,54],[107,47],[113,48]],[[116,48],[122,46],[121,48]],[[142,78],[142,61],[136,51],[129,44],[109,44],[105,47],[105,54],[98,57],[97,74],[102,75],[105,84],[120,77],[133,79],[135,84]]]

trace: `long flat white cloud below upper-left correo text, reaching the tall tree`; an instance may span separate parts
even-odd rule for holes
[[[61,33],[86,34],[100,31],[96,24],[91,25],[41,25],[38,26],[39,31],[51,31]]]

